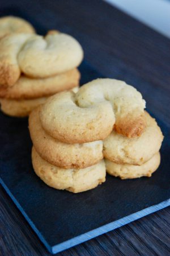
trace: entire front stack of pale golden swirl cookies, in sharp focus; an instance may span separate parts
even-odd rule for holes
[[[71,192],[104,182],[106,170],[121,179],[150,177],[160,163],[163,135],[144,109],[141,93],[113,79],[50,97],[29,117],[36,174]]]

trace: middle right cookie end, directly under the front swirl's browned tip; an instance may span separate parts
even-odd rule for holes
[[[146,127],[140,137],[127,138],[112,131],[103,141],[103,155],[114,163],[141,165],[160,150],[163,134],[155,119],[145,112]]]

